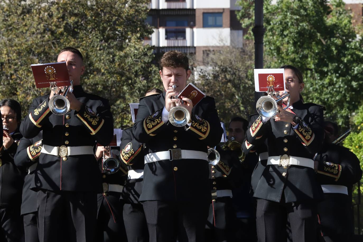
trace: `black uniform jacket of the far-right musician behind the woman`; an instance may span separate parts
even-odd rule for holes
[[[359,160],[349,149],[325,144],[315,160],[319,161],[320,184],[343,185],[348,195],[324,193],[324,201],[318,205],[323,234],[354,233],[352,224],[352,186],[362,178]]]

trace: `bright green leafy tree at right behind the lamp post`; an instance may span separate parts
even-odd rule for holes
[[[302,70],[307,102],[326,106],[325,116],[343,127],[362,98],[363,41],[342,0],[264,1],[265,67],[291,64]],[[243,0],[242,26],[254,22],[254,1]],[[251,29],[245,35],[253,38]]]

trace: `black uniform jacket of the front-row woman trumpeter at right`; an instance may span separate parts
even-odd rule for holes
[[[269,156],[297,156],[313,159],[324,138],[323,107],[301,100],[290,110],[301,118],[294,129],[291,123],[276,122],[271,118],[262,123],[261,116],[247,130],[244,150],[260,145],[267,139]],[[289,110],[287,110],[289,111]],[[258,182],[254,197],[280,202],[282,193],[286,202],[321,200],[323,193],[313,168],[297,165],[267,165]]]

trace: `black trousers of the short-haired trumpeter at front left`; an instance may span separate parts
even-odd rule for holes
[[[39,190],[40,242],[93,242],[97,222],[97,193]]]

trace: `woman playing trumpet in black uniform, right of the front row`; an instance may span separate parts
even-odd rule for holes
[[[260,242],[286,241],[289,219],[294,242],[316,241],[317,202],[322,189],[316,179],[315,153],[324,139],[323,106],[304,103],[303,76],[294,66],[285,69],[287,98],[273,118],[259,116],[249,130],[244,152],[267,141],[268,160],[254,191],[257,198],[257,237]],[[282,93],[280,93],[282,94]]]

